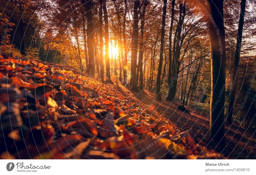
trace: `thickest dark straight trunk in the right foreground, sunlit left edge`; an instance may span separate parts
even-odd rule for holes
[[[211,44],[211,101],[210,136],[220,145],[225,144],[224,105],[225,105],[225,32],[223,21],[223,0],[208,1],[209,36]]]

